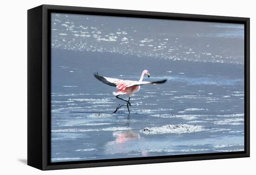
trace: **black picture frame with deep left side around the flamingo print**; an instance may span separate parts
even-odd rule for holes
[[[244,151],[74,162],[51,162],[51,12],[244,24]],[[41,5],[29,9],[27,11],[27,164],[37,169],[51,170],[249,157],[249,28],[249,18],[239,17],[53,5]]]

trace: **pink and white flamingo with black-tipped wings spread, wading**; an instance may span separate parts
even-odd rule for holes
[[[148,70],[143,70],[142,74],[141,74],[141,78],[139,81],[132,81],[132,80],[121,80],[121,79],[116,79],[116,78],[109,78],[106,76],[101,76],[97,73],[94,73],[94,77],[97,78],[99,81],[109,85],[109,86],[113,86],[116,87],[116,91],[113,92],[113,94],[115,95],[115,97],[117,99],[126,101],[127,104],[127,108],[128,108],[128,112],[130,113],[130,109],[129,106],[131,106],[130,103],[130,99],[133,96],[133,94],[139,92],[141,85],[145,85],[145,84],[162,84],[165,83],[165,81],[167,81],[167,79],[161,80],[161,81],[153,81],[153,82],[149,82],[149,81],[143,81],[143,77],[144,75],[148,75],[148,78],[150,77],[150,74],[148,73]],[[124,95],[127,94],[129,96],[128,100],[124,100],[122,98],[119,97],[119,95]],[[125,105],[121,105],[121,106],[125,106]],[[118,106],[115,110],[114,113],[116,113],[116,111],[121,107]]]

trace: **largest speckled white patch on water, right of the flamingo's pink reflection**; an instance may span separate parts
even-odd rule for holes
[[[186,125],[186,124],[178,124],[178,125],[164,125],[160,127],[147,127],[143,130],[140,130],[141,133],[144,134],[182,134],[182,133],[191,133],[191,132],[199,132],[204,131],[203,127],[200,125]]]

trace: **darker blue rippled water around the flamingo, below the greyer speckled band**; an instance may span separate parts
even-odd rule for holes
[[[123,103],[112,94],[115,87],[95,79],[93,72],[138,80],[142,64],[133,63],[141,58],[124,56],[128,69],[109,69],[108,59],[118,57],[121,62],[121,54],[53,50],[53,56],[53,162],[244,149],[241,65],[145,57],[143,69],[151,74],[145,79],[168,81],[142,86],[131,99],[131,114],[125,107],[113,114]],[[95,62],[102,56],[106,61]]]

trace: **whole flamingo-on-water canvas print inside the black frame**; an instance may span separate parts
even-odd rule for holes
[[[51,162],[244,151],[244,25],[51,13]]]

